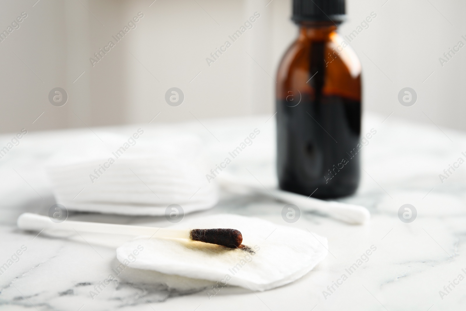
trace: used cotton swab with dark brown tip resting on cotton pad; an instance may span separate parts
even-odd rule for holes
[[[43,229],[91,232],[115,235],[144,235],[155,238],[188,239],[205,243],[218,244],[232,249],[239,248],[243,242],[241,232],[235,229],[167,229],[156,227],[142,227],[118,225],[111,223],[87,221],[63,221],[55,223],[47,216],[24,213],[18,217],[18,228],[23,230],[41,231]]]

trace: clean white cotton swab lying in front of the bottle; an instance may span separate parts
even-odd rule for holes
[[[222,175],[219,175],[218,180],[220,185],[227,190],[231,190],[233,192],[244,192],[245,190],[248,190],[264,194],[283,202],[295,204],[302,210],[319,212],[350,224],[363,225],[370,220],[370,213],[367,208],[363,206],[336,201],[319,200],[280,189],[266,189],[261,185],[239,180],[231,175],[225,174],[225,172]]]

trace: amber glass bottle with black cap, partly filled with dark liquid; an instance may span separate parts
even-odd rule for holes
[[[337,33],[344,0],[295,0],[299,36],[277,73],[281,189],[317,198],[353,194],[359,182],[361,64]]]

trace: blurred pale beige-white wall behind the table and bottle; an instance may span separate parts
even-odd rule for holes
[[[0,43],[0,131],[146,123],[159,112],[154,122],[272,115],[275,72],[297,28],[290,0],[268,1],[3,1],[0,30],[23,11],[28,17]],[[465,130],[466,47],[439,62],[466,43],[464,2],[385,1],[347,0],[340,29],[348,35],[377,14],[351,42],[363,64],[364,109]],[[139,11],[137,28],[92,67],[89,57]],[[206,57],[256,11],[253,28],[209,67]],[[69,94],[62,107],[48,102],[55,87]],[[165,103],[171,87],[183,90],[181,106]],[[397,101],[404,87],[418,93],[412,107]]]

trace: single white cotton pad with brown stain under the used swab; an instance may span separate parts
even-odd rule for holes
[[[212,215],[183,221],[171,228],[235,228],[247,249],[183,239],[138,238],[117,249],[123,263],[141,245],[131,268],[155,270],[189,279],[209,280],[251,290],[291,283],[327,256],[327,239],[301,229],[239,215]],[[157,280],[154,280],[157,281]]]

